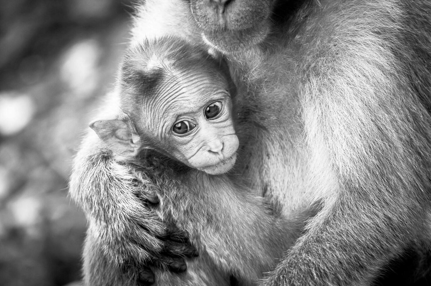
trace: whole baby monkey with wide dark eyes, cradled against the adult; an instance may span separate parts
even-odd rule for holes
[[[156,285],[256,285],[301,226],[225,174],[239,144],[227,67],[182,40],[146,40],[126,52],[117,88],[121,112],[90,127],[142,192],[156,193],[158,216],[183,229],[199,251],[184,273],[153,269]]]

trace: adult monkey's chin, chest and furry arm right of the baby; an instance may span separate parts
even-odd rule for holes
[[[284,213],[322,206],[266,285],[367,285],[428,249],[431,1],[188,2],[250,94],[237,171]]]

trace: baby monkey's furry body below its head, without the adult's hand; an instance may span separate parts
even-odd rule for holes
[[[297,214],[290,220],[276,216],[264,198],[234,185],[225,175],[196,170],[176,173],[165,159],[148,155],[139,162],[146,160],[153,169],[147,163],[131,171],[137,178],[155,174],[150,179],[158,182],[156,212],[185,230],[200,253],[187,262],[185,274],[157,271],[156,285],[230,285],[231,277],[240,285],[257,285],[281,258],[280,246],[289,246],[297,238],[303,228],[297,222],[308,216]],[[140,181],[147,180],[144,175]]]

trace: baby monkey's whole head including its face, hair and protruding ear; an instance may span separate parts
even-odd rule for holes
[[[90,127],[118,160],[151,149],[210,174],[234,166],[235,87],[221,59],[177,38],[145,40],[126,51],[116,92],[122,113]]]

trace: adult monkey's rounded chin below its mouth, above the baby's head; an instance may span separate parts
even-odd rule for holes
[[[204,31],[203,40],[219,52],[230,54],[243,51],[265,40],[269,25],[244,30]]]

